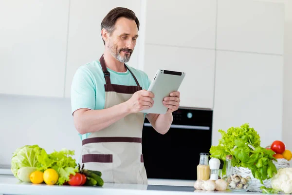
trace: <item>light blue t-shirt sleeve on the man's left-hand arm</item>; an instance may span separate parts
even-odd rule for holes
[[[95,108],[95,85],[90,72],[83,67],[77,69],[71,85],[71,111],[72,114],[80,108]]]

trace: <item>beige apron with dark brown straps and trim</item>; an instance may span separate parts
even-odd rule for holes
[[[142,90],[126,65],[137,86],[111,84],[103,56],[100,64],[106,79],[105,109],[127,101],[133,93]],[[82,141],[85,169],[102,172],[106,183],[147,184],[142,155],[143,123],[143,113],[130,114],[105,129],[91,133]]]

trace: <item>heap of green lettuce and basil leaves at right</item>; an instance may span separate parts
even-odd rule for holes
[[[251,169],[255,178],[263,184],[263,180],[272,178],[277,169],[272,160],[274,151],[260,147],[260,137],[248,123],[240,127],[231,127],[227,132],[219,130],[221,139],[218,146],[211,146],[211,157],[225,160],[227,155],[232,155],[232,164],[237,167]],[[222,169],[225,174],[226,165]]]

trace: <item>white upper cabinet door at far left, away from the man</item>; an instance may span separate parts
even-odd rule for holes
[[[63,97],[69,0],[0,0],[0,93]]]

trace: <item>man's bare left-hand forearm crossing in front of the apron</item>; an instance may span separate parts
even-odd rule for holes
[[[92,133],[102,130],[119,119],[129,114],[125,103],[121,103],[102,110],[87,110],[76,113],[78,116],[74,120],[75,127],[80,134]],[[75,113],[74,113],[75,115]]]

